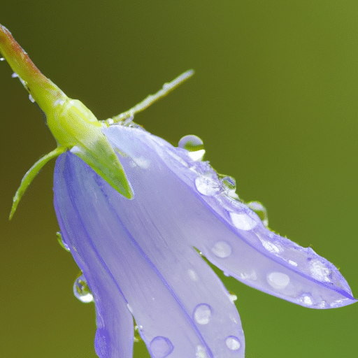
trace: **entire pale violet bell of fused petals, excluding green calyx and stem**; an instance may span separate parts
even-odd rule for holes
[[[92,289],[108,342],[127,347],[117,328],[120,315],[128,319],[127,304],[153,358],[244,357],[236,308],[193,247],[227,274],[301,306],[355,302],[332,264],[266,229],[208,162],[140,127],[103,133],[134,199],[71,152],[57,159],[54,189],[62,235]],[[101,357],[117,357],[100,341],[106,339],[96,339],[97,352],[105,347]]]

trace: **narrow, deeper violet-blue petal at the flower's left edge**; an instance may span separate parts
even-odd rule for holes
[[[55,210],[62,240],[69,246],[73,258],[85,274],[96,306],[96,353],[100,358],[128,358],[133,355],[134,324],[127,301],[120,289],[113,287],[113,276],[92,244],[91,232],[78,208],[73,206],[73,193],[64,182],[64,159],[55,166]],[[78,159],[80,160],[80,159]],[[69,182],[72,182],[70,180]],[[114,283],[115,285],[115,283]]]

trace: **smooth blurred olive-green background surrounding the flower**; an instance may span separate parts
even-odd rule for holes
[[[18,1],[0,23],[38,68],[99,119],[193,68],[136,122],[171,143],[200,136],[270,227],[327,257],[358,296],[357,1]],[[55,148],[41,114],[0,63],[0,356],[95,358],[94,306],[72,293],[60,248],[54,162],[8,222],[24,173]],[[225,278],[238,296],[246,357],[355,357],[358,304],[295,306]],[[143,343],[135,357],[148,357]],[[183,357],[186,358],[186,357]]]

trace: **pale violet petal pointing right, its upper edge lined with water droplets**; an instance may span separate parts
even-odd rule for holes
[[[223,189],[222,181],[208,162],[196,162],[187,150],[174,148],[141,129],[113,126],[105,134],[115,148],[129,157],[145,161],[143,153],[157,152],[171,174],[163,175],[162,168],[157,175],[156,171],[146,169],[150,173],[146,177],[150,183],[145,184],[148,195],[159,182],[158,177],[164,176],[166,188],[163,183],[161,191],[165,194],[162,196],[170,196],[171,192],[177,194],[171,199],[176,211],[170,215],[185,223],[180,229],[180,238],[199,248],[210,262],[227,274],[268,294],[309,308],[336,308],[356,301],[333,264],[311,248],[302,248],[264,227],[255,212],[232,199]],[[148,149],[143,150],[145,145]],[[185,194],[179,193],[184,186],[192,194],[182,201]],[[152,203],[153,207],[161,205],[162,196]],[[169,203],[166,205],[170,207]]]

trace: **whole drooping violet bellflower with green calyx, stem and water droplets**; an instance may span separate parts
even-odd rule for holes
[[[201,256],[246,285],[307,308],[356,302],[333,264],[270,231],[258,215],[261,204],[238,199],[234,179],[202,161],[198,137],[186,136],[176,148],[131,122],[192,72],[99,122],[0,30],[3,56],[58,143],[25,175],[11,215],[38,170],[58,157],[61,240],[83,272],[76,296],[96,306],[100,358],[132,357],[133,318],[153,358],[245,356],[235,297]]]

